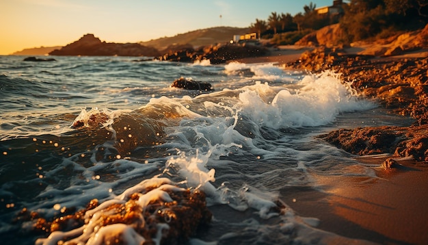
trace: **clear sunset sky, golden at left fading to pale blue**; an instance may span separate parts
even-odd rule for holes
[[[84,34],[140,42],[209,27],[249,27],[272,12],[333,0],[0,0],[0,55],[65,46]]]

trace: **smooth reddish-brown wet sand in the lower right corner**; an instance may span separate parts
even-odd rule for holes
[[[364,164],[383,159],[360,157]],[[428,166],[400,162],[401,169],[375,168],[379,179],[317,177],[322,190],[284,193],[299,216],[319,218],[317,228],[379,244],[427,244]]]

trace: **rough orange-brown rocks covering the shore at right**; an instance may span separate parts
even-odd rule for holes
[[[390,153],[428,162],[428,57],[375,57],[318,47],[287,66],[314,73],[334,70],[363,96],[415,119],[410,127],[340,129],[321,138],[353,154]]]

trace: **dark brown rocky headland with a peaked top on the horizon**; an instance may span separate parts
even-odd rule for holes
[[[51,51],[49,55],[157,56],[159,51],[137,43],[101,42],[94,34],[85,34],[79,40]]]

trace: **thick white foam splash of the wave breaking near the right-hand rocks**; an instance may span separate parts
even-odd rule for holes
[[[284,88],[266,101],[260,94],[270,88],[256,84],[239,98],[243,112],[258,125],[280,129],[285,127],[317,127],[332,123],[338,114],[371,109],[375,104],[359,99],[334,73],[307,75],[295,90]]]

